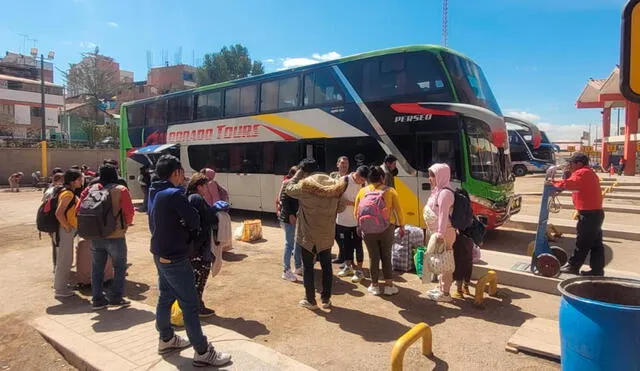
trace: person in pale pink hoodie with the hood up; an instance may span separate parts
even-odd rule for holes
[[[451,169],[447,164],[433,164],[429,168],[431,195],[423,210],[427,229],[435,234],[436,244],[444,244],[446,250],[453,250],[456,241],[456,230],[451,225],[450,215],[453,210],[455,195],[451,190]],[[438,287],[427,292],[433,301],[451,301],[451,284],[453,283],[453,261],[442,264],[442,272],[438,276]]]

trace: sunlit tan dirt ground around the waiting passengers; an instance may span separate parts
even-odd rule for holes
[[[0,259],[5,262],[0,270],[0,365],[4,369],[49,369],[52,362],[68,367],[25,326],[27,320],[60,305],[51,289],[50,245],[46,239],[38,240],[34,228],[37,205],[35,192],[0,192]],[[135,222],[128,236],[132,266],[126,292],[132,300],[153,306],[156,273],[148,252],[146,216],[136,215]],[[265,241],[236,244],[226,254],[221,274],[209,282],[205,301],[218,314],[211,323],[322,370],[388,369],[394,341],[423,321],[433,328],[435,357],[423,358],[419,347],[412,347],[405,360],[408,370],[559,368],[555,362],[504,351],[506,341],[526,319],[557,318],[557,296],[502,287],[500,298],[488,299],[485,309],[476,309],[469,300],[439,305],[422,298],[420,294],[431,287],[407,273],[397,277],[401,292],[390,299],[367,294],[368,282],[356,285],[336,278],[335,308],[310,312],[296,306],[303,296],[302,285],[280,279],[280,229],[268,216],[264,224]],[[78,305],[88,302],[78,300]],[[155,341],[150,336],[149,343]],[[224,343],[220,347],[224,349]]]

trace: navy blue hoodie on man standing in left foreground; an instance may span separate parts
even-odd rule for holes
[[[151,253],[175,260],[189,256],[191,236],[200,228],[200,217],[184,190],[166,180],[149,188]]]

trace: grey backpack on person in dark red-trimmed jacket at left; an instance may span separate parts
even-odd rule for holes
[[[117,184],[100,188],[94,184],[78,210],[78,235],[87,240],[105,238],[116,230],[111,191]],[[119,214],[119,213],[118,213]]]

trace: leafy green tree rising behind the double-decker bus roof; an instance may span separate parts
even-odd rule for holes
[[[236,44],[225,46],[218,53],[205,54],[204,62],[198,68],[197,78],[198,84],[202,86],[263,73],[262,62],[252,61],[249,50]]]

